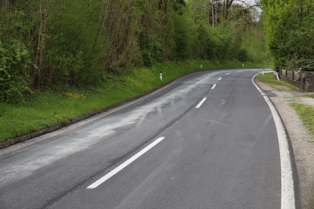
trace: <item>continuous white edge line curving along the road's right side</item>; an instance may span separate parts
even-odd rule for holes
[[[260,74],[260,73],[259,73]],[[254,78],[257,76],[256,74],[252,78],[252,83],[255,85],[257,90],[263,95],[263,91],[258,87],[258,85],[254,82]],[[265,95],[265,94],[264,94]],[[277,110],[271,103],[268,96],[264,96],[265,101],[267,102],[270,111],[273,115],[277,135],[279,142],[279,151],[280,151],[280,162],[281,162],[281,185],[282,185],[282,196],[281,196],[281,208],[282,209],[295,209],[295,192],[294,192],[294,184],[293,184],[293,174],[290,160],[290,152],[288,139],[286,136],[286,132],[283,126],[283,122],[277,113]]]

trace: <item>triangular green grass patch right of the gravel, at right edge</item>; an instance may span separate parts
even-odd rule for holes
[[[310,105],[292,103],[293,107],[303,121],[304,126],[314,135],[314,108]]]

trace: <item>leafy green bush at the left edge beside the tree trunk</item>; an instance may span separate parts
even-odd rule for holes
[[[24,44],[17,40],[0,41],[0,101],[16,103],[23,100],[24,92],[31,92],[27,73],[30,64]]]

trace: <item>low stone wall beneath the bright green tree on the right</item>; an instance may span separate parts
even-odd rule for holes
[[[297,86],[304,91],[314,91],[314,72],[301,72],[299,75],[297,71],[281,69],[279,75],[281,80]]]

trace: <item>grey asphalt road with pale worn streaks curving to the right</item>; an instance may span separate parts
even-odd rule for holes
[[[193,73],[0,150],[0,208],[281,208],[277,130],[251,81],[259,71]]]

